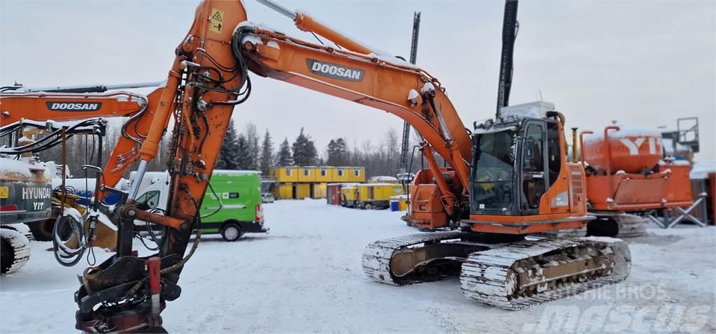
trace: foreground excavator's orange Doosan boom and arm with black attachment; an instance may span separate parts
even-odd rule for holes
[[[127,201],[117,206],[112,217],[119,225],[117,252],[101,265],[87,268],[81,277],[82,286],[75,294],[77,329],[89,333],[158,330],[165,301],[179,297],[180,272],[200,240],[197,232],[185,255],[200,222],[199,205],[233,107],[251,92],[249,71],[405,119],[424,139],[422,152],[442,192],[445,212],[459,214],[460,202],[467,197],[471,142],[440,82],[407,62],[381,56],[347,39],[306,14],[286,13],[299,29],[324,36],[343,49],[250,24],[239,0],[208,0],[198,6],[193,25],[175,51],[156,109],[151,109],[152,124],[139,150],[135,182]],[[166,215],[156,215],[135,198],[170,119],[175,122],[169,209]],[[433,152],[452,167],[457,180],[445,180],[445,169],[438,166]],[[157,255],[137,257],[132,250],[135,219],[166,227]]]

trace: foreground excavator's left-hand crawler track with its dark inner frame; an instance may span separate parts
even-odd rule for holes
[[[420,251],[429,245],[445,245],[450,241],[459,241],[466,235],[466,233],[458,231],[431,232],[372,242],[363,251],[363,272],[372,280],[388,285],[409,285],[457,277],[460,275],[460,263],[464,260],[463,258],[442,257],[440,260],[422,263],[420,260],[412,258],[412,252]],[[453,245],[460,247],[457,242]],[[468,253],[465,253],[463,257]],[[417,267],[399,265],[397,259],[405,258],[406,255],[411,257],[407,262],[419,265]]]

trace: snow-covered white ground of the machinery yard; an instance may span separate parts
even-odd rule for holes
[[[367,243],[417,232],[400,212],[320,200],[266,205],[269,235],[203,237],[163,312],[170,333],[714,333],[716,228],[679,226],[630,241],[626,282],[511,312],[463,297],[457,279],[392,287],[364,277]],[[76,275],[48,242],[0,280],[0,333],[70,333]],[[101,261],[109,256],[98,251]]]

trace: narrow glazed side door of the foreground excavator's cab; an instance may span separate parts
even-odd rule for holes
[[[545,166],[546,127],[544,122],[530,120],[525,123],[522,140],[521,211],[527,215],[539,213],[539,203],[546,192]]]

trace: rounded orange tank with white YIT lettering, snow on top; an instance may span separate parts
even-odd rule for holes
[[[656,129],[612,125],[604,132],[582,134],[589,134],[581,139],[583,161],[608,174],[652,170],[662,158],[662,136]]]

